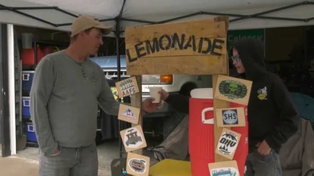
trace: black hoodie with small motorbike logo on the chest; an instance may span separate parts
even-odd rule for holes
[[[283,81],[266,70],[261,40],[239,40],[232,46],[238,51],[246,70],[236,77],[253,81],[248,103],[249,148],[266,140],[279,153],[282,144],[298,129],[298,111]],[[177,111],[189,113],[189,97],[170,94],[165,102]]]

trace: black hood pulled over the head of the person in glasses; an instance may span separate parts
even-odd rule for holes
[[[258,79],[262,74],[268,73],[264,63],[265,45],[260,39],[247,38],[232,43],[232,48],[238,51],[241,62],[245,68],[245,78],[247,80]]]

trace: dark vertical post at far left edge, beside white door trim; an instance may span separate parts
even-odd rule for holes
[[[0,155],[11,155],[8,75],[8,24],[0,24]]]

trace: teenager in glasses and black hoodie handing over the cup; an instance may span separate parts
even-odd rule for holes
[[[248,103],[249,154],[246,176],[281,176],[279,150],[296,133],[300,116],[283,81],[266,70],[264,44],[258,39],[232,45],[238,78],[251,80]],[[161,98],[180,112],[188,113],[189,97],[162,90]],[[241,168],[239,168],[241,169]]]

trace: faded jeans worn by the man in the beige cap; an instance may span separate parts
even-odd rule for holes
[[[81,148],[59,147],[60,153],[39,153],[39,176],[98,176],[96,144]]]

